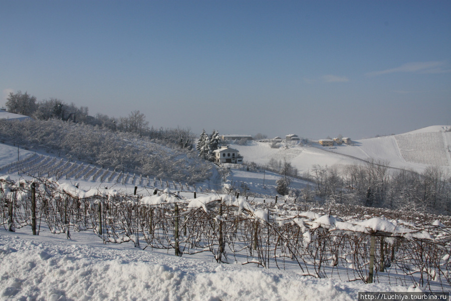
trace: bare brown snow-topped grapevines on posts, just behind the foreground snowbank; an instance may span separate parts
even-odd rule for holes
[[[41,164],[41,169],[49,164],[39,156],[27,160]],[[66,166],[64,170],[71,165],[52,164]],[[106,178],[114,172],[85,166],[70,173]],[[112,179],[121,181],[116,177]],[[129,183],[143,181],[125,178]],[[104,243],[129,242],[141,249],[173,250],[177,256],[203,252],[218,263],[296,270],[316,278],[384,281],[433,291],[451,288],[449,217],[337,204],[309,208],[275,200],[254,202],[187,191],[176,183],[172,193],[156,189],[151,185],[155,180],[144,181],[148,188],[127,194],[85,191],[48,177],[33,182],[3,177],[0,222],[9,231],[26,227],[39,235],[48,229],[68,239],[74,231],[89,231]]]

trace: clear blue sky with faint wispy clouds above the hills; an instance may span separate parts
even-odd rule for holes
[[[150,126],[352,139],[451,124],[450,1],[0,0],[21,90]]]

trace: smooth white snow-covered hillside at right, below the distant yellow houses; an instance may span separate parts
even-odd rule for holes
[[[268,164],[270,160],[286,159],[298,169],[299,174],[320,166],[346,166],[365,164],[374,160],[385,165],[422,172],[428,166],[438,166],[451,171],[451,126],[429,126],[408,133],[355,140],[351,145],[323,147],[285,144],[271,148],[268,142],[249,142],[236,145],[245,161]]]

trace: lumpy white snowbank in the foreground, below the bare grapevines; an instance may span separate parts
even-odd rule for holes
[[[131,243],[104,245],[87,233],[73,233],[67,240],[49,231],[39,236],[26,232],[0,230],[0,300],[340,301],[356,300],[362,290],[413,290],[217,264],[141,250]]]

